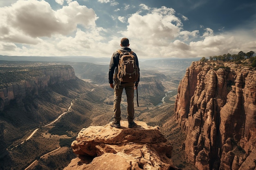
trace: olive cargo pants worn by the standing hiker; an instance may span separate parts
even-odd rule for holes
[[[123,90],[126,91],[126,97],[127,97],[127,120],[128,122],[133,121],[134,119],[134,83],[128,82],[119,84],[119,82],[115,82],[114,86],[114,115],[113,118],[115,121],[121,120],[121,97]]]

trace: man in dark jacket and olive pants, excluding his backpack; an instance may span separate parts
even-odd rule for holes
[[[129,46],[129,40],[128,38],[122,38],[121,39],[121,49],[119,49],[122,52],[125,51],[132,51]],[[132,53],[132,55],[135,56],[135,63],[138,66],[139,70],[139,62],[137,55],[135,53]],[[114,88],[114,121],[110,122],[110,125],[115,128],[120,128],[120,120],[121,120],[121,108],[120,108],[120,103],[121,103],[121,97],[123,90],[125,89],[126,91],[126,97],[127,97],[127,120],[128,120],[128,128],[132,128],[135,126],[135,122],[133,121],[134,119],[134,90],[137,88],[137,85],[139,83],[139,78],[137,82],[119,82],[117,77],[114,77],[114,72],[115,75],[118,72],[118,64],[119,64],[119,52],[115,51],[112,54],[110,65],[109,65],[109,73],[108,73],[108,82],[110,83],[110,87]],[[114,81],[113,81],[114,79]],[[115,84],[113,84],[115,83]]]

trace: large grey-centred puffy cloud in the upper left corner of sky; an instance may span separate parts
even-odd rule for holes
[[[48,2],[37,0],[18,0],[11,7],[1,8],[0,21],[4,23],[0,29],[1,39],[8,40],[11,37],[20,37],[23,33],[24,42],[39,37],[51,37],[54,34],[67,35],[76,30],[77,24],[84,27],[94,27],[97,16],[93,9],[80,6],[76,1],[70,2],[68,6],[52,10]],[[20,40],[18,40],[20,42]]]

